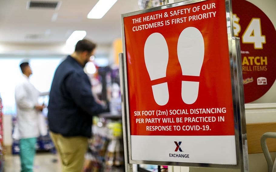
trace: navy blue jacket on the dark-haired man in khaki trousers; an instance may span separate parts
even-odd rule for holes
[[[96,103],[83,67],[68,56],[56,69],[48,104],[50,131],[62,136],[91,136],[92,116],[103,112]]]

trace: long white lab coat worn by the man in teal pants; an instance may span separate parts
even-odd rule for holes
[[[40,111],[35,110],[39,105],[40,92],[30,83],[23,74],[19,84],[15,87],[15,102],[17,107],[17,124],[13,138],[34,138],[47,134],[47,126]]]

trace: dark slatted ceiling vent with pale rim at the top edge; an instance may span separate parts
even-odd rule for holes
[[[60,1],[28,1],[27,9],[57,10],[60,5]]]

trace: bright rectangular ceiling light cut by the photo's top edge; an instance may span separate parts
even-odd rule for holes
[[[117,0],[99,0],[97,4],[92,8],[92,10],[89,12],[87,18],[103,18],[103,16],[116,2]]]

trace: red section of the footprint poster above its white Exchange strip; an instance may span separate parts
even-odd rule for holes
[[[190,14],[193,15],[190,20],[188,10],[184,15],[182,6],[124,18],[131,135],[234,135],[226,12],[220,4],[212,8],[212,2],[217,1],[197,3],[196,7],[208,5],[211,8],[204,11],[200,8],[198,12],[191,11],[194,5],[185,6],[191,8]],[[208,18],[199,20],[202,13],[207,14]],[[187,17],[186,22],[183,17]],[[139,20],[141,22],[135,22]],[[166,22],[170,24],[166,25]],[[154,28],[148,28],[152,23]],[[197,47],[198,42],[203,45]],[[201,51],[200,55],[198,51]],[[201,64],[196,63],[198,61]],[[196,88],[183,90],[189,88],[189,84],[196,87],[196,83],[198,91]],[[163,91],[158,92],[158,87]],[[185,103],[182,91],[187,95],[191,91],[198,92],[196,101]],[[158,96],[167,97],[167,102],[160,102],[160,106]],[[226,108],[226,113],[200,113],[209,108]],[[177,117],[217,119],[219,116],[224,117],[225,121],[176,123]],[[161,121],[146,123],[146,119],[154,118]],[[163,122],[163,119],[168,121]],[[147,129],[147,126],[170,124],[179,124],[181,128],[186,124],[200,125],[201,128],[208,125],[209,129]]]

